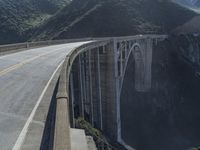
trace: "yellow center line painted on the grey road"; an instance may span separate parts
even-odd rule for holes
[[[63,48],[60,48],[60,49],[63,49]],[[59,50],[59,49],[57,49],[57,50]],[[52,52],[47,52],[47,53],[43,53],[43,54],[37,55],[37,56],[35,56],[33,58],[26,59],[26,60],[24,60],[24,61],[22,61],[22,62],[20,62],[18,64],[15,64],[15,65],[12,65],[12,66],[10,66],[10,67],[8,67],[6,69],[3,69],[2,71],[0,70],[0,76],[3,76],[3,75],[5,75],[5,74],[7,74],[7,73],[9,73],[9,72],[11,72],[13,70],[16,70],[16,69],[24,66],[25,64],[27,64],[29,62],[32,62],[32,61],[34,61],[34,60],[36,60],[36,59],[38,59],[40,57],[48,55],[49,53],[52,53]]]

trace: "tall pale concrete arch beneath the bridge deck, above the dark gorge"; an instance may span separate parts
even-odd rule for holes
[[[133,74],[131,74],[131,79],[132,81],[130,81],[129,83],[132,84],[132,88],[137,92],[145,92],[147,91],[147,88],[145,87],[145,50],[144,46],[141,45],[141,43],[134,43],[130,49],[129,49],[129,53],[125,59],[125,65],[124,65],[124,71],[123,71],[123,75],[122,75],[122,79],[121,79],[121,85],[120,85],[120,90],[119,90],[119,105],[120,107],[122,106],[122,101],[121,101],[121,96],[122,96],[122,90],[124,88],[124,80],[126,75],[128,74],[128,65],[130,65],[130,61],[132,61],[131,63],[131,68],[132,70],[134,70]],[[121,114],[122,108],[120,108],[120,116]],[[129,115],[129,114],[127,114]],[[121,116],[123,117],[123,116]],[[132,149],[132,147],[129,146],[128,143],[126,143],[126,140],[123,139],[123,123],[122,123],[122,118],[120,117],[120,125],[119,125],[119,130],[120,130],[120,137],[118,137],[119,141],[128,149]]]

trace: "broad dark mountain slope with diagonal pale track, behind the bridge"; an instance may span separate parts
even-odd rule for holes
[[[74,0],[32,40],[169,33],[195,15],[170,0]]]

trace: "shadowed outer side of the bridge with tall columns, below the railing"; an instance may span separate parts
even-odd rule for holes
[[[76,56],[70,73],[72,118],[81,116],[111,139],[121,137],[121,91],[129,59],[135,60],[135,89],[151,88],[153,46],[165,35],[113,38],[86,47]],[[131,57],[132,56],[132,57]],[[74,116],[77,114],[77,116]],[[74,124],[72,121],[71,124]]]

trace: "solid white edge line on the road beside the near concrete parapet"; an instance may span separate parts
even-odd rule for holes
[[[16,142],[15,142],[15,145],[14,145],[14,147],[12,148],[12,150],[20,150],[20,148],[21,148],[21,146],[22,146],[22,144],[23,144],[23,142],[24,142],[24,139],[25,139],[25,137],[26,137],[26,134],[27,134],[27,132],[28,132],[29,125],[30,125],[30,123],[32,122],[33,117],[35,116],[36,110],[37,110],[37,108],[38,108],[40,102],[42,101],[42,99],[43,99],[43,97],[44,97],[44,94],[46,93],[46,91],[47,91],[47,89],[48,89],[48,87],[49,87],[51,81],[53,80],[55,74],[57,73],[58,69],[61,67],[61,65],[63,64],[63,62],[64,62],[64,61],[62,61],[62,62],[58,65],[58,67],[56,68],[56,70],[55,70],[54,73],[52,74],[51,78],[49,79],[48,83],[46,84],[44,90],[42,91],[42,94],[40,95],[40,97],[39,97],[39,99],[38,99],[38,101],[37,101],[35,107],[33,108],[32,112],[31,112],[31,114],[30,114],[28,120],[26,121],[26,124],[24,125],[24,127],[23,127],[23,129],[22,129],[22,131],[21,131],[21,133],[20,133],[20,135],[19,135],[19,137],[17,138],[17,140],[16,140]]]

